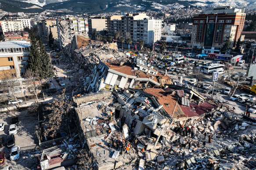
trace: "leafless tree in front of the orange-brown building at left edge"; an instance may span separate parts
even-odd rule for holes
[[[2,83],[4,83],[4,90],[8,91],[8,94],[11,95],[18,104],[18,108],[20,108],[20,103],[17,99],[17,93],[21,92],[20,87],[18,87],[20,75],[17,75],[18,70],[16,69],[8,69],[0,71],[0,79],[2,79]]]

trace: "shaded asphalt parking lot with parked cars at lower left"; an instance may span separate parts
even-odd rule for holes
[[[20,146],[20,158],[16,161],[10,160],[11,148],[7,148],[7,135],[11,124],[11,117],[18,116],[17,134],[15,136],[15,146]],[[5,152],[5,165],[9,165],[13,170],[32,170],[36,166],[36,134],[35,129],[38,118],[35,113],[28,113],[28,110],[10,111],[0,113],[0,123],[4,122],[4,131],[0,131],[0,136],[4,137],[3,147],[0,152]]]

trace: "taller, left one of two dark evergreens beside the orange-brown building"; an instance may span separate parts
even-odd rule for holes
[[[40,76],[40,54],[38,51],[38,44],[36,40],[36,33],[31,30],[30,32],[31,46],[29,50],[28,69],[30,69],[36,76]]]

